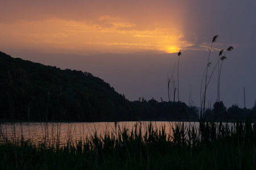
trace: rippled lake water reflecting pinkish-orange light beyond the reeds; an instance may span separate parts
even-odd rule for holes
[[[166,127],[166,133],[172,135],[172,127],[180,122],[164,122],[156,121],[151,122],[154,128],[158,130],[162,127]],[[22,123],[2,123],[0,126],[0,141],[6,139],[10,141],[19,140],[23,137],[25,140],[29,140],[32,143],[39,144],[46,141],[48,145],[54,143],[60,143],[64,145],[69,141],[77,142],[91,138],[92,135],[104,135],[106,132],[117,135],[120,130],[127,128],[129,132],[141,126],[142,134],[145,133],[150,122],[118,122],[115,126],[114,122],[22,122]],[[184,122],[185,127],[195,126],[198,127],[198,122]]]

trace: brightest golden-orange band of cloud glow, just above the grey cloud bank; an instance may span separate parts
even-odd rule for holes
[[[59,18],[18,20],[0,26],[0,35],[16,48],[51,53],[176,53],[184,44],[179,28],[141,28],[135,22],[108,15],[80,22]]]

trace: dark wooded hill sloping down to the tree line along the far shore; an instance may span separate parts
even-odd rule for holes
[[[206,118],[255,117],[256,107],[226,110],[222,101]],[[0,118],[32,121],[196,121],[196,107],[178,101],[129,101],[90,73],[45,66],[0,52]]]

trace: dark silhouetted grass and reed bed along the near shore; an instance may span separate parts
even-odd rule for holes
[[[117,134],[97,134],[65,146],[22,139],[0,145],[1,169],[255,169],[256,124],[251,120],[222,124],[199,120],[199,127],[141,124]]]

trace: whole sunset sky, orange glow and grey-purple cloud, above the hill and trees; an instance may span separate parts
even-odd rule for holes
[[[133,101],[168,100],[177,53],[180,100],[200,106],[200,86],[213,36],[210,70],[221,49],[221,100],[246,107],[256,99],[256,1],[1,0],[0,51],[44,65],[92,73]],[[175,65],[176,63],[176,65]],[[211,71],[210,71],[211,72]],[[173,93],[172,93],[173,95]],[[173,98],[173,97],[172,97]],[[217,71],[207,101],[216,101]]]

